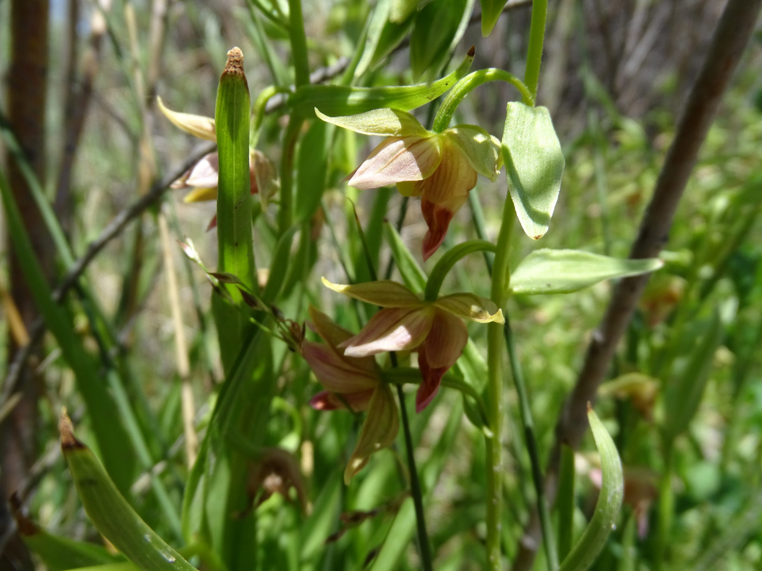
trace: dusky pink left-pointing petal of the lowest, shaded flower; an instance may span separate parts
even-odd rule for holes
[[[365,391],[378,384],[378,378],[373,373],[352,365],[348,359],[326,345],[305,341],[302,345],[302,355],[315,373],[320,384],[328,391],[347,394]]]

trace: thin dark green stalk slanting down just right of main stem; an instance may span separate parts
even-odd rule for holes
[[[505,336],[505,344],[508,347],[508,356],[511,361],[511,375],[514,377],[514,384],[516,385],[516,392],[519,397],[519,413],[524,431],[524,439],[527,442],[527,451],[529,452],[529,458],[532,464],[532,480],[534,480],[534,490],[537,495],[537,511],[539,512],[539,525],[543,531],[545,556],[548,561],[549,571],[556,571],[556,569],[559,568],[559,555],[555,550],[552,522],[550,521],[550,510],[548,509],[548,502],[545,498],[545,481],[543,479],[543,469],[540,467],[539,463],[539,451],[537,451],[537,439],[534,435],[534,421],[532,419],[532,409],[529,404],[529,394],[527,394],[527,385],[523,381],[523,374],[516,354],[516,343],[514,343],[514,335],[511,331],[511,322],[508,321],[507,312],[505,312],[504,316],[505,325],[503,327],[503,334]],[[572,455],[572,461],[573,458]]]

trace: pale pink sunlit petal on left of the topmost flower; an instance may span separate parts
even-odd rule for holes
[[[423,180],[441,160],[440,137],[387,137],[357,167],[349,186],[367,190],[405,180]]]

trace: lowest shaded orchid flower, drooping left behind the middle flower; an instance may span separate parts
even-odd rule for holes
[[[386,448],[397,436],[399,418],[394,395],[379,375],[373,356],[353,357],[344,354],[339,346],[353,337],[350,331],[339,327],[328,315],[309,307],[310,328],[325,341],[302,344],[302,355],[315,377],[325,387],[312,397],[309,404],[316,410],[351,408],[353,412],[365,410],[365,422],[357,438],[357,445],[344,470],[344,483],[349,483],[370,460],[373,452]]]

